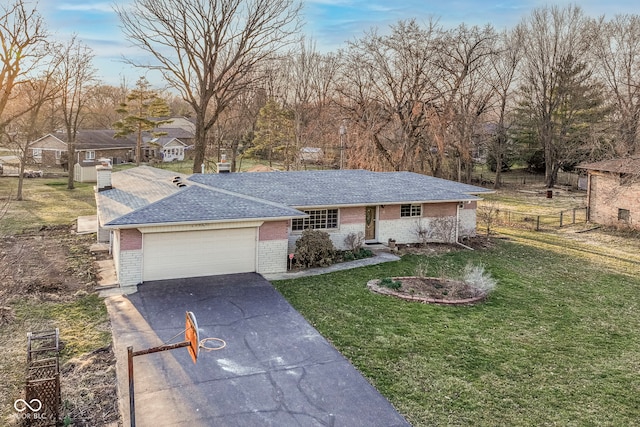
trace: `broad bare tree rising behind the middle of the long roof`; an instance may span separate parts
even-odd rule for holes
[[[400,21],[389,36],[372,30],[343,52],[339,102],[364,137],[360,164],[353,166],[416,169],[419,151],[430,145],[429,118],[440,97],[431,60],[440,34],[433,21],[426,28]]]

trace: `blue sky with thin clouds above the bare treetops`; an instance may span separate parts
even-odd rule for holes
[[[122,5],[127,0],[115,2]],[[638,0],[308,0],[304,5],[304,32],[316,41],[319,50],[332,51],[372,27],[384,31],[401,19],[427,21],[435,17],[445,27],[463,22],[490,23],[500,30],[513,27],[534,8],[570,3],[593,17],[640,14]],[[139,52],[122,35],[112,1],[40,0],[38,4],[56,38],[64,40],[76,33],[94,50],[99,77],[104,82],[117,85],[124,75],[132,85],[142,74],[142,70],[132,70],[120,60],[122,55],[135,56]]]

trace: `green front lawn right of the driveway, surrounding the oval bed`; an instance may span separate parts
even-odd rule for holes
[[[637,275],[579,252],[500,242],[428,258],[433,274],[484,264],[498,286],[483,304],[366,289],[412,275],[423,259],[274,284],[413,425],[637,424]]]

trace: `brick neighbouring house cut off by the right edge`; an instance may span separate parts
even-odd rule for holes
[[[640,229],[640,156],[579,168],[587,171],[589,221]]]

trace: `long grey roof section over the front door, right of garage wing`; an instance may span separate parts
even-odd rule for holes
[[[365,170],[226,173],[189,180],[292,207],[468,201],[491,192],[411,172]]]

